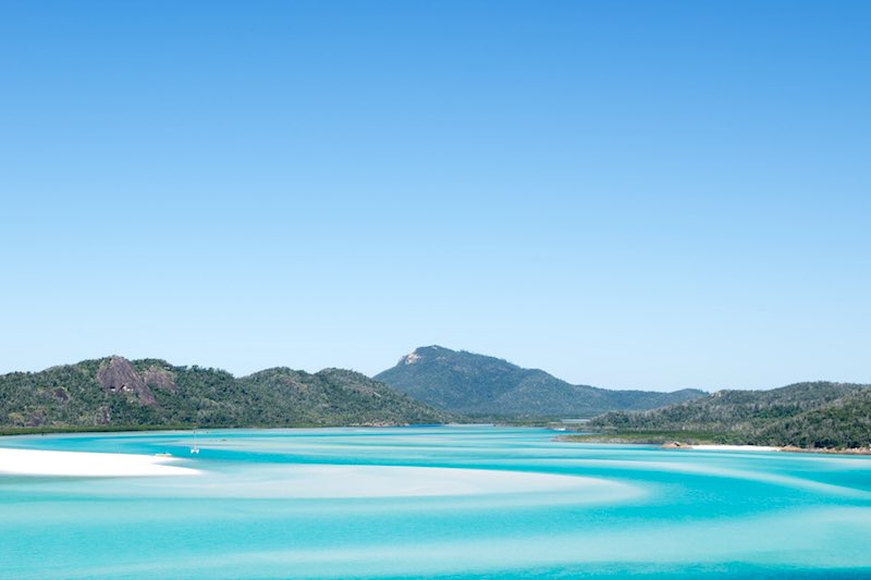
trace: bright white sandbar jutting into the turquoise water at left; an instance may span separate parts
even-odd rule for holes
[[[174,457],[120,453],[49,452],[0,447],[0,474],[85,478],[196,476],[197,469],[172,464]]]

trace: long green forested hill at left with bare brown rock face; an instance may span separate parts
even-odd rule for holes
[[[122,357],[0,375],[0,428],[438,423],[450,416],[360,373],[285,368],[234,378]]]

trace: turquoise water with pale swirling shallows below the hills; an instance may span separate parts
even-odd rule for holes
[[[492,427],[4,437],[198,476],[0,476],[0,578],[871,577],[871,458]]]

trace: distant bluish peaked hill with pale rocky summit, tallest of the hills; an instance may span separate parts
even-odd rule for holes
[[[542,370],[441,346],[417,348],[375,379],[436,407],[489,417],[593,417],[614,409],[652,409],[706,394],[574,385]]]

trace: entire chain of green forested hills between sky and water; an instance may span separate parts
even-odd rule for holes
[[[248,377],[159,359],[86,360],[0,375],[0,434],[192,427],[327,427],[465,420],[542,424],[599,415],[578,441],[871,447],[871,386],[650,393],[572,385],[540,370],[441,347],[377,377],[275,368]],[[415,398],[446,410],[438,410]],[[670,405],[670,403],[673,403]],[[646,407],[662,408],[648,410]]]

